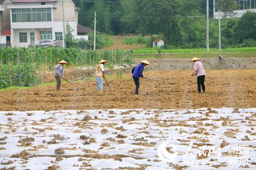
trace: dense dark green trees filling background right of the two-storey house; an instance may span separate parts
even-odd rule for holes
[[[223,0],[225,16],[239,6]],[[213,1],[209,1],[212,11]],[[79,0],[79,23],[93,28],[94,11],[98,11],[97,30],[105,33],[138,33],[162,36],[165,48],[203,48],[206,46],[206,1],[204,0]],[[85,9],[85,11],[83,11]],[[210,15],[210,48],[218,47],[218,20]],[[223,17],[225,17],[223,16]],[[106,19],[108,18],[108,19]],[[222,48],[255,44],[256,13],[241,18],[222,19]],[[133,43],[134,40],[125,40]],[[137,42],[136,42],[137,43]],[[147,42],[146,42],[147,43]]]

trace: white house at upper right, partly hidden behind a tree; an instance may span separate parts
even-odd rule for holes
[[[246,11],[252,11],[256,12],[256,0],[234,0],[238,4],[241,5],[241,7],[238,10],[234,10],[235,15],[233,15],[233,18],[240,18]],[[215,8],[216,4],[218,4],[218,0],[214,0],[214,18],[219,19],[219,9]],[[220,14],[222,18],[222,12]],[[227,18],[230,18],[229,16]]]

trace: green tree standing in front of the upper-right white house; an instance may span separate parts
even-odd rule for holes
[[[237,10],[241,5],[237,4],[234,0],[216,0],[215,8],[220,10],[223,13],[223,17],[227,18],[227,16],[232,17],[234,14],[234,10]]]

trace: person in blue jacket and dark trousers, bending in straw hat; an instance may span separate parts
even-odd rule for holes
[[[133,73],[133,80],[135,83],[135,95],[139,95],[139,87],[140,87],[140,78],[143,78],[143,69],[146,65],[151,65],[147,60],[140,61],[140,63],[133,68],[132,73]]]

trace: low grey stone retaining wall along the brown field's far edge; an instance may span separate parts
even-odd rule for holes
[[[134,59],[134,64],[139,63],[143,59]],[[151,63],[146,66],[147,69],[154,70],[179,70],[193,69],[193,63],[190,59],[148,59]],[[202,63],[205,69],[255,69],[256,57],[250,58],[203,58]]]

